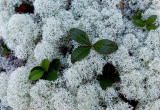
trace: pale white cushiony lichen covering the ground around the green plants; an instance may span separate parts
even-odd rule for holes
[[[70,7],[69,0],[29,1],[6,0],[5,5],[0,0],[0,37],[16,57],[27,60],[24,67],[0,73],[4,106],[14,110],[132,110],[118,97],[122,93],[139,102],[137,110],[160,109],[159,0],[125,0],[124,10],[121,0],[71,0]],[[33,3],[34,14],[16,13],[14,7],[22,2]],[[133,25],[131,16],[139,9],[145,11],[143,19],[158,16],[156,30],[147,32]],[[71,54],[63,56],[60,50],[64,45],[78,46],[68,36],[71,28],[87,32],[92,43],[115,41],[119,49],[111,55],[91,51],[71,64]],[[29,81],[30,70],[45,58],[60,58],[65,65],[61,76],[54,82]],[[116,66],[121,82],[102,90],[94,76],[102,74],[107,62]]]

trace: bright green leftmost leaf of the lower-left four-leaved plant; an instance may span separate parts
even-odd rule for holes
[[[44,74],[44,71],[42,70],[34,70],[31,72],[29,76],[29,80],[38,80],[40,79]]]

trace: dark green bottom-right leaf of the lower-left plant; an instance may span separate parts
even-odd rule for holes
[[[43,79],[54,81],[58,78],[57,71],[54,68],[49,68],[49,71],[45,73]]]

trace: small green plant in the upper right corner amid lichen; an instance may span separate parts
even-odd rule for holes
[[[143,10],[139,10],[136,15],[133,15],[133,24],[135,24],[138,27],[144,27],[146,26],[147,30],[155,30],[157,27],[155,24],[153,24],[156,19],[157,15],[151,15],[147,20],[142,20],[142,13],[144,13]]]

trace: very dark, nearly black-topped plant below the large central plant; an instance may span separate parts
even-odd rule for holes
[[[101,88],[106,90],[107,87],[119,82],[120,77],[115,67],[112,64],[107,63],[103,67],[102,75],[97,76],[97,80],[99,81]]]

